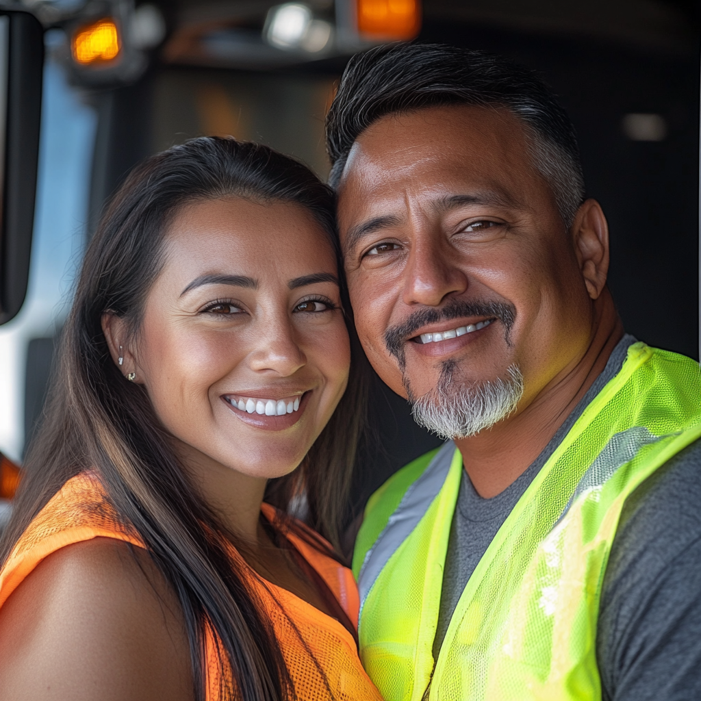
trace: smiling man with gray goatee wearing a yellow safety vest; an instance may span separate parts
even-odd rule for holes
[[[367,505],[388,701],[701,698],[701,373],[624,333],[576,138],[528,70],[356,56],[327,121],[362,345],[450,441]]]

